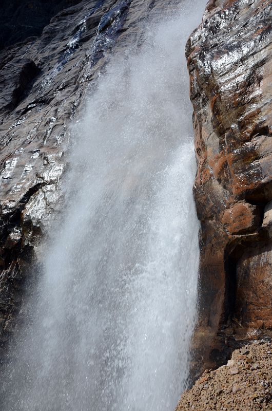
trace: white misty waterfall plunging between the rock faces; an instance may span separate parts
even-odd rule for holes
[[[2,411],[170,411],[186,386],[199,226],[183,49],[200,3],[116,54],[73,126],[66,206]]]

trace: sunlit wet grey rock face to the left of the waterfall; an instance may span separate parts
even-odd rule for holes
[[[163,0],[86,0],[53,17],[41,38],[0,54],[1,348],[12,333],[35,249],[62,207],[68,124],[84,111],[84,97],[113,47],[137,47],[146,19],[160,18],[164,6]]]

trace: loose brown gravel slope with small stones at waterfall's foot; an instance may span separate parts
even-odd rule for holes
[[[266,342],[246,345],[215,371],[206,370],[186,391],[176,411],[270,410],[272,402],[272,352]]]

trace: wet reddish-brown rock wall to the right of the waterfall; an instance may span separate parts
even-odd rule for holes
[[[210,1],[186,46],[206,368],[272,327],[270,15],[270,1]]]

